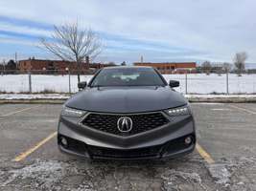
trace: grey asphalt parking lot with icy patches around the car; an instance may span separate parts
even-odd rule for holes
[[[0,190],[256,190],[256,104],[194,103],[198,146],[180,159],[59,153],[58,104],[0,105]]]

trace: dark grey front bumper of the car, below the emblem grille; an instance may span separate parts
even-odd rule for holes
[[[60,151],[89,159],[162,159],[193,152],[196,145],[194,118],[173,117],[156,129],[129,137],[107,134],[81,126],[74,117],[60,117],[58,148]],[[185,138],[192,138],[186,144]],[[65,138],[68,145],[61,143]]]

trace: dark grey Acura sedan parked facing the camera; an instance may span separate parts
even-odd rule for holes
[[[63,105],[60,151],[89,159],[162,159],[191,153],[195,121],[188,101],[151,67],[109,67]]]

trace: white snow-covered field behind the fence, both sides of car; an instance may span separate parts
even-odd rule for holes
[[[89,81],[92,75],[82,75],[81,80]],[[185,94],[185,74],[164,74],[167,81],[170,79],[179,80],[180,87],[176,91]],[[226,74],[188,74],[188,94],[225,94]],[[256,74],[243,74],[238,77],[236,74],[229,74],[230,94],[256,94]],[[28,74],[0,75],[0,92],[25,93],[29,91]],[[52,91],[56,93],[68,93],[68,75],[32,75],[32,91],[34,93]],[[77,88],[77,75],[71,75],[71,92],[75,93]]]

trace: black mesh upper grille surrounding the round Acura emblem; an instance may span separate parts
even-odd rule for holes
[[[132,129],[127,132],[120,132],[117,128],[117,121],[120,117],[130,117],[132,120]],[[109,134],[118,136],[131,136],[146,132],[162,125],[169,120],[160,112],[136,115],[107,115],[90,113],[82,120],[82,124],[90,128],[100,130]]]

